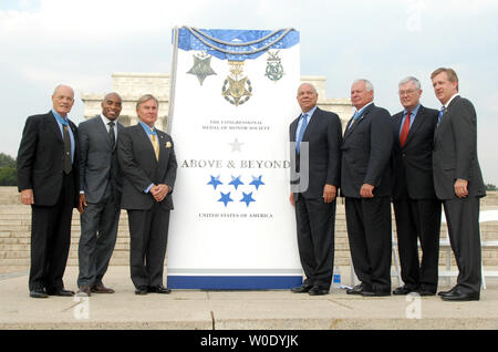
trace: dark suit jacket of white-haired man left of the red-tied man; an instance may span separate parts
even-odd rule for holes
[[[341,195],[361,198],[363,184],[375,186],[374,196],[392,191],[391,154],[393,131],[387,110],[369,105],[350,127],[347,122],[342,142]]]

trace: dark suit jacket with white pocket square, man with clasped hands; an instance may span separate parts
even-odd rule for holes
[[[172,190],[176,179],[176,157],[172,137],[157,130],[159,161],[156,161],[151,138],[141,124],[123,128],[117,138],[117,158],[123,172],[123,209],[151,209],[154,197],[144,190],[151,184],[166,184],[169,194],[160,203],[173,209]]]

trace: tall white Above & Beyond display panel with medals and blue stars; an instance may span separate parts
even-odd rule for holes
[[[184,27],[173,37],[168,287],[301,284],[288,142],[299,115],[299,32]]]

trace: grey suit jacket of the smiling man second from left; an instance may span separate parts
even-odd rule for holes
[[[124,126],[116,121],[117,138]],[[80,187],[86,201],[98,203],[107,184],[121,193],[122,175],[117,163],[117,143],[112,146],[107,127],[101,116],[84,121],[77,128],[80,139]]]

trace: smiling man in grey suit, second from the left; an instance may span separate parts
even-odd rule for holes
[[[102,279],[107,271],[121,210],[122,177],[116,141],[123,132],[117,122],[122,100],[117,93],[105,95],[102,114],[82,122],[80,139],[80,275],[77,296],[114,293]]]

